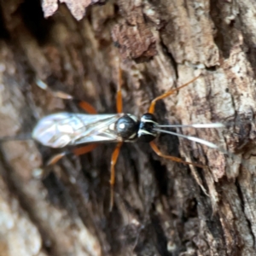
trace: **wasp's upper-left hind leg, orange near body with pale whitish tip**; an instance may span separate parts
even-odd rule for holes
[[[49,88],[49,86],[47,84],[45,84],[40,79],[38,79],[36,81],[36,84],[38,84],[38,87],[40,87],[41,89],[49,91],[49,93],[52,96],[55,96],[55,97],[63,99],[63,100],[73,100],[75,102],[78,102],[79,107],[83,108],[84,111],[87,112],[87,113],[97,113],[96,109],[93,108],[88,102],[84,102],[84,101],[78,100],[78,99],[74,98],[72,95],[70,95],[70,94],[68,94],[66,92],[63,92],[61,90],[51,90]]]

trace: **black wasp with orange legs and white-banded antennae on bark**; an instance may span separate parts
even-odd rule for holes
[[[50,114],[38,121],[38,124],[32,131],[32,138],[38,143],[48,146],[50,148],[64,148],[67,146],[79,146],[73,148],[73,154],[80,155],[90,152],[96,148],[97,143],[117,143],[116,148],[113,150],[111,157],[110,168],[110,209],[113,207],[113,185],[115,182],[115,164],[119,157],[119,151],[123,143],[134,143],[138,140],[149,143],[151,148],[160,157],[168,160],[173,160],[186,165],[199,166],[199,164],[184,161],[172,155],[162,154],[160,149],[154,143],[154,139],[159,136],[160,133],[168,133],[178,137],[183,137],[194,141],[195,143],[201,143],[207,145],[210,148],[218,148],[214,143],[207,142],[198,137],[184,136],[173,131],[166,131],[163,128],[177,128],[177,127],[193,127],[193,128],[219,128],[224,127],[221,123],[212,124],[194,124],[194,125],[160,125],[154,116],[155,103],[174,94],[177,90],[181,90],[183,87],[188,86],[199,79],[200,76],[190,80],[188,83],[183,84],[176,89],[167,91],[154,98],[151,102],[148,113],[144,113],[141,119],[138,119],[131,113],[123,113],[123,102],[121,94],[121,70],[119,68],[119,82],[116,96],[116,108],[117,113],[102,114],[96,113],[96,109],[93,108],[88,102],[79,101],[79,106],[87,113],[54,113]],[[62,91],[50,90],[47,84],[38,80],[37,84],[44,90],[49,90],[54,96],[62,99],[73,99],[73,96],[68,95]],[[60,160],[66,152],[56,154],[52,157],[48,165],[55,164]]]

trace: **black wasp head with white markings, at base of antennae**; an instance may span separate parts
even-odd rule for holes
[[[154,114],[144,113],[139,125],[137,137],[144,143],[150,143],[157,137],[157,132],[154,131],[155,126],[158,125]]]

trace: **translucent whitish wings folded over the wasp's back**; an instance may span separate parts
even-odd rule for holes
[[[114,123],[123,113],[84,114],[54,113],[40,119],[32,138],[51,148],[81,143],[121,142]]]

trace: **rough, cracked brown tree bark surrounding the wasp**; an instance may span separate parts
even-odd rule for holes
[[[254,0],[106,1],[80,21],[65,4],[45,20],[40,1],[1,1],[0,44],[0,137],[29,134],[48,113],[79,111],[38,88],[37,78],[115,113],[120,58],[124,111],[137,116],[201,73],[157,104],[156,115],[160,123],[223,122],[221,131],[180,132],[234,154],[158,139],[165,154],[209,167],[201,169],[126,143],[109,212],[114,144],[68,156],[37,179],[55,150],[1,143],[1,256],[256,255]]]

